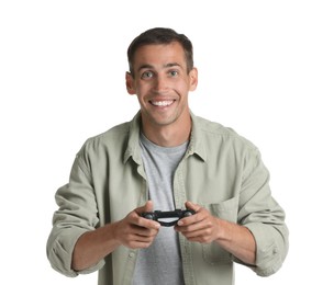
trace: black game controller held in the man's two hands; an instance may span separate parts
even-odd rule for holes
[[[142,217],[146,219],[153,219],[158,221],[164,227],[171,227],[178,223],[179,219],[189,217],[194,214],[194,210],[192,209],[175,209],[175,210],[155,210],[155,212],[145,212],[142,214]],[[169,220],[164,221],[163,219]]]

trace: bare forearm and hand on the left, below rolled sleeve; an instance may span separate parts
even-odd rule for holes
[[[80,236],[73,253],[73,270],[81,271],[92,266],[120,246],[132,249],[149,247],[160,225],[142,218],[140,214],[152,209],[153,203],[149,201],[145,206],[131,212],[124,219]]]

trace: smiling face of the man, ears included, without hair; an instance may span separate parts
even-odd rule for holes
[[[179,43],[140,47],[133,62],[134,76],[126,73],[126,88],[136,94],[144,126],[182,124],[188,116],[188,92],[197,87],[197,70],[187,72]]]

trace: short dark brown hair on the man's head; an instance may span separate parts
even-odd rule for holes
[[[154,27],[135,37],[127,48],[129,69],[132,76],[134,76],[134,55],[140,47],[145,45],[168,45],[175,42],[179,43],[183,47],[187,72],[189,73],[193,68],[193,52],[190,39],[186,35],[178,34],[171,29]]]

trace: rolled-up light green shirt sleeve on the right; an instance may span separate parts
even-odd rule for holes
[[[271,196],[269,172],[257,149],[249,152],[244,169],[238,220],[256,241],[256,266],[252,269],[260,276],[269,276],[281,267],[288,253],[286,214]]]

